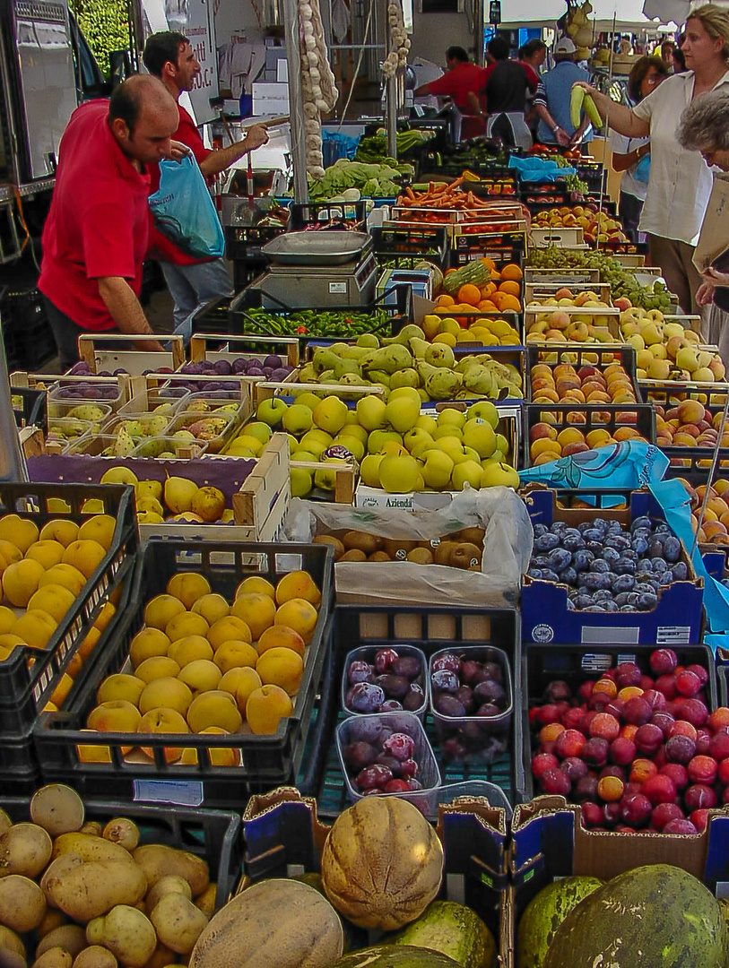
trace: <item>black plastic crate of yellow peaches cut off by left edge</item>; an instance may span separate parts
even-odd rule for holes
[[[67,501],[71,510],[49,511],[48,501],[57,499]],[[102,500],[105,513],[116,518],[111,547],[66,617],[58,623],[46,648],[18,646],[0,662],[0,740],[6,733],[27,739],[39,711],[45,707],[107,599],[133,571],[138,548],[132,488],[98,484],[0,484],[0,512],[30,519],[39,529],[55,519],[71,518],[77,523],[88,520],[87,515],[82,515],[81,507],[89,499]],[[121,612],[118,608],[103,636],[110,634],[121,619]],[[91,664],[93,655],[92,652],[84,668]],[[32,665],[29,665],[30,659],[33,659]]]

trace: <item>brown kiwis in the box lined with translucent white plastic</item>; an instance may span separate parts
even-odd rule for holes
[[[411,541],[352,530],[341,537],[319,534],[314,543],[334,548],[335,561],[411,561],[480,571],[484,533],[482,528],[462,528],[438,540]]]

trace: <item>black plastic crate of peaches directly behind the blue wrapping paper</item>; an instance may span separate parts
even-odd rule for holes
[[[606,430],[611,436],[623,427],[636,430],[649,443],[655,443],[655,410],[650,404],[527,404],[524,408],[524,467],[532,467],[530,433],[542,413],[557,417],[553,426],[559,433],[568,427],[587,435],[592,430]],[[570,419],[576,414],[585,417],[584,423]],[[554,460],[561,455],[555,453]]]

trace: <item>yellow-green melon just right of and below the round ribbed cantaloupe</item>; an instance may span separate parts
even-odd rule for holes
[[[492,968],[496,963],[491,931],[471,908],[455,901],[433,901],[417,921],[387,940],[447,954],[463,968]]]

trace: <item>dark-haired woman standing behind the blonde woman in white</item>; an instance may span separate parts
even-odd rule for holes
[[[667,76],[668,69],[663,61],[657,57],[641,57],[627,78],[627,93],[632,103],[637,105],[648,97]],[[638,221],[648,192],[651,160],[650,157],[647,162],[644,159],[651,154],[651,138],[625,137],[613,131],[610,133],[610,148],[613,169],[623,172],[618,212],[628,237],[637,242]]]

